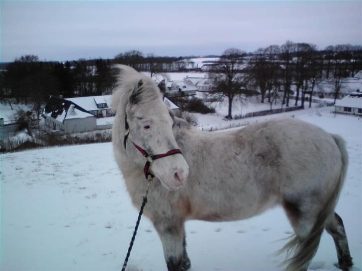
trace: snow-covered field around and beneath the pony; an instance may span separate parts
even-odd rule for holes
[[[348,142],[350,166],[337,212],[346,226],[353,270],[361,270],[362,119],[334,116],[332,110],[292,114]],[[219,118],[217,122],[225,122]],[[138,211],[130,203],[111,143],[8,153],[0,161],[0,270],[121,269]],[[278,240],[291,232],[279,207],[237,222],[188,221],[191,270],[280,270],[283,256],[274,252],[285,243]],[[324,233],[310,270],[338,270],[336,262],[333,240]],[[159,237],[146,217],[127,269],[167,269]]]

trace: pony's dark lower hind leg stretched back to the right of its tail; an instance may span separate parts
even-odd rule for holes
[[[336,212],[328,220],[326,230],[332,235],[336,245],[339,268],[343,271],[349,271],[353,266],[352,257],[342,218]]]

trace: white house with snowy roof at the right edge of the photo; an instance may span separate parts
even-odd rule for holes
[[[362,92],[353,92],[335,104],[335,113],[362,116]]]

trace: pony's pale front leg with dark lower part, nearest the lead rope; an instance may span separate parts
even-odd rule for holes
[[[161,219],[154,222],[164,249],[164,256],[169,271],[182,271],[190,267],[186,253],[186,241],[183,222]]]

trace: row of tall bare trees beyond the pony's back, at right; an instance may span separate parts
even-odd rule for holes
[[[304,108],[306,96],[311,98],[322,82],[332,86],[336,100],[344,78],[355,76],[359,70],[362,70],[362,46],[328,46],[318,51],[313,44],[287,41],[281,46],[260,48],[252,56],[230,48],[209,72],[210,93],[228,98],[226,118],[229,119],[234,98],[253,95],[256,90],[261,94],[261,102],[267,98],[271,105],[282,95],[282,105],[286,107],[290,94],[295,92],[295,105],[300,100]]]

